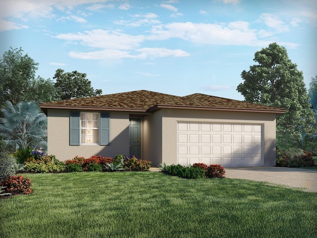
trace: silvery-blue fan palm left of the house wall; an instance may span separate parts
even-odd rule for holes
[[[36,102],[20,102],[13,106],[6,101],[2,108],[0,135],[16,149],[47,147],[47,117]]]

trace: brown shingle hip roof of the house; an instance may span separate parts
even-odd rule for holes
[[[284,113],[285,110],[227,98],[195,93],[184,97],[147,90],[115,93],[40,104],[42,109],[77,109],[127,112],[153,112],[160,108],[256,111]]]

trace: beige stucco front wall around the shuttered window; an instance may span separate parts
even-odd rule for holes
[[[110,145],[69,145],[69,110],[48,110],[48,154],[60,161],[76,155],[114,157],[129,154],[129,113],[110,112]]]

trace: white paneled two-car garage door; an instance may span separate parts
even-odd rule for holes
[[[177,122],[177,163],[264,166],[262,125]]]

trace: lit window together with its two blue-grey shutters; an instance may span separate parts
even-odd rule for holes
[[[71,112],[69,145],[109,145],[109,113]]]

